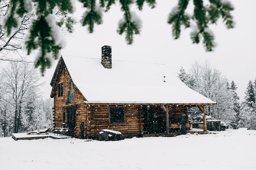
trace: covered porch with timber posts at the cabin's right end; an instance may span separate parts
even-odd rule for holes
[[[197,106],[203,115],[203,129],[192,129],[188,121],[188,107]],[[162,104],[143,107],[142,137],[171,137],[190,134],[209,133],[206,129],[205,104]]]

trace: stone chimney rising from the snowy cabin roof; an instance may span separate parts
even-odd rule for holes
[[[111,46],[101,47],[101,64],[106,69],[112,69],[112,49]]]

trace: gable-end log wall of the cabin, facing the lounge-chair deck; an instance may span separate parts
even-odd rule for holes
[[[86,126],[87,110],[86,110],[86,106],[84,105],[85,99],[77,91],[74,83],[73,83],[73,89],[74,89],[75,103],[67,104],[70,80],[71,78],[68,74],[68,71],[67,70],[64,71],[63,65],[62,65],[58,72],[57,83],[53,87],[55,91],[53,125],[54,125],[54,128],[57,128],[57,127],[60,128],[63,122],[63,109],[67,109],[68,107],[76,107],[76,132],[74,133],[74,136],[79,138],[81,134],[80,123],[84,122],[84,126]],[[63,82],[63,96],[58,97],[58,84],[61,82]],[[67,111],[66,111],[66,120],[67,120]],[[84,127],[84,129],[87,129],[87,127]],[[87,138],[86,130],[84,130],[84,136],[85,138]]]

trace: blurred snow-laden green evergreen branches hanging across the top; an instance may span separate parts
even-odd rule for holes
[[[57,59],[59,57],[59,50],[65,46],[65,41],[61,35],[60,26],[64,23],[69,31],[72,31],[74,19],[68,17],[56,23],[56,17],[53,15],[55,7],[65,13],[73,13],[73,0],[11,0],[9,10],[4,18],[4,29],[7,31],[7,36],[11,34],[12,28],[19,27],[19,18],[33,10],[32,2],[35,3],[35,17],[31,19],[31,26],[25,38],[25,45],[28,55],[34,49],[39,49],[36,56],[36,67],[41,67],[42,75],[46,68],[51,66],[51,57]],[[93,32],[94,24],[102,24],[101,10],[97,8],[96,0],[79,0],[84,4],[85,11],[81,23],[83,26],[88,26],[88,31]],[[210,5],[205,6],[203,0],[193,0],[194,14],[190,17],[185,13],[189,0],[179,0],[178,6],[174,7],[169,14],[168,24],[172,24],[172,34],[174,39],[180,37],[180,27],[183,25],[185,28],[190,27],[190,22],[196,23],[195,30],[191,33],[193,43],[199,43],[201,37],[206,51],[212,51],[214,48],[214,36],[208,26],[216,24],[220,16],[226,23],[227,28],[233,28],[233,18],[230,11],[234,7],[228,1],[210,0]],[[156,0],[137,0],[136,5],[139,10],[142,10],[144,2],[152,8],[156,5]],[[100,0],[100,7],[106,8],[107,12],[116,0]],[[140,19],[134,17],[135,15],[130,12],[130,5],[133,0],[119,0],[121,11],[124,11],[124,18],[118,23],[117,32],[119,34],[126,34],[126,41],[132,44],[133,35],[140,33]]]

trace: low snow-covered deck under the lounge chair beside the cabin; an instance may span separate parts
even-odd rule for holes
[[[27,133],[13,133],[12,134],[12,137],[14,140],[31,140],[31,139],[44,139],[44,138],[47,138],[47,137],[51,137],[53,139],[65,139],[65,138],[69,138],[70,136],[66,136],[66,135],[60,135],[58,134],[55,134],[54,133],[49,133],[49,135],[47,134],[29,134],[27,135]]]

